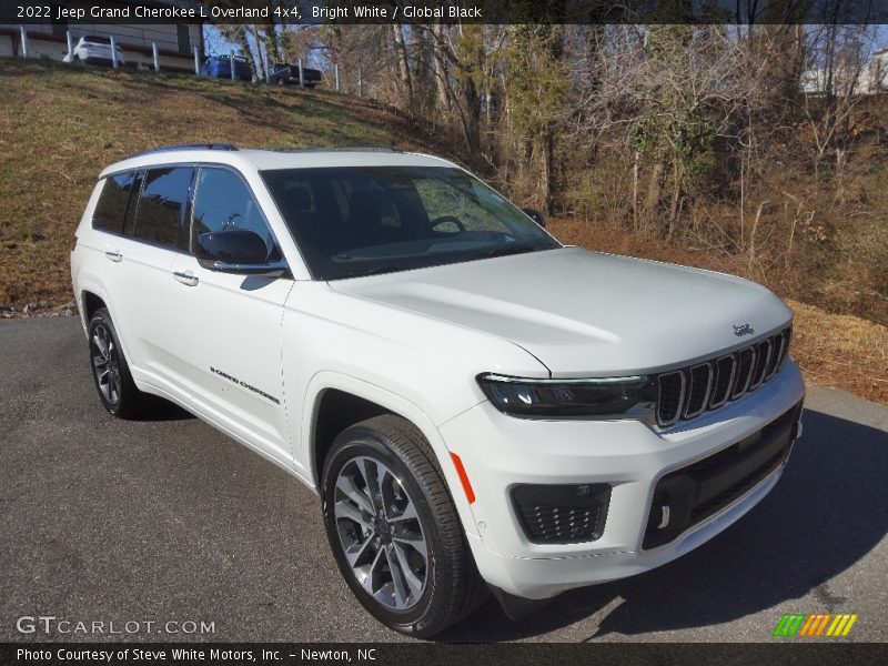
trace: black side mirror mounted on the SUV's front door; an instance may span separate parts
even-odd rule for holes
[[[287,270],[284,261],[269,261],[269,246],[249,229],[210,231],[198,236],[198,263],[210,271],[239,275],[269,275]]]

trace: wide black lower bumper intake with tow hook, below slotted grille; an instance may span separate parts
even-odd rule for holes
[[[789,455],[800,412],[801,403],[740,442],[660,478],[643,547],[674,541],[761,483]]]

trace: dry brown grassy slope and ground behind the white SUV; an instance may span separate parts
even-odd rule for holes
[[[144,148],[392,145],[447,155],[370,100],[188,75],[0,60],[0,306],[71,300],[68,252],[107,164]],[[744,273],[706,248],[680,248],[578,220],[553,220],[565,243]],[[778,283],[771,287],[781,291]],[[888,403],[888,327],[793,302],[794,355],[809,382]]]

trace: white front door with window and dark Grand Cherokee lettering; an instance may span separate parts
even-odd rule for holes
[[[250,186],[236,171],[202,167],[195,181],[191,246],[198,235],[224,229],[259,233],[280,256],[278,242]],[[203,269],[178,254],[176,381],[218,423],[281,462],[292,461],[281,372],[286,278],[235,275]]]

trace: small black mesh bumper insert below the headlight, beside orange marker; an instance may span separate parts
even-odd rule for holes
[[[578,544],[602,536],[610,502],[607,484],[523,484],[512,491],[515,513],[535,544]]]

